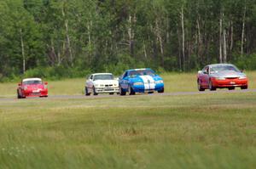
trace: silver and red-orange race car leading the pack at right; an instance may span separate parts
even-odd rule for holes
[[[238,70],[235,65],[231,64],[215,64],[207,65],[197,74],[197,86],[199,91],[209,88],[229,88],[234,90],[235,87],[247,89],[247,76]]]

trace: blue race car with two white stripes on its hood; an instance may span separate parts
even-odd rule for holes
[[[125,73],[119,77],[119,93],[130,95],[135,93],[164,93],[163,79],[154,73],[151,69],[125,70]]]

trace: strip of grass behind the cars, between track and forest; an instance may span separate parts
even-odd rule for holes
[[[246,72],[249,77],[249,88],[256,88],[256,71]],[[166,93],[197,91],[195,73],[165,73]],[[49,95],[84,94],[84,78],[67,79],[49,82]],[[0,83],[0,97],[15,97],[17,83]]]

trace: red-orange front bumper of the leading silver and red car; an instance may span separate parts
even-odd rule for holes
[[[213,87],[245,87],[248,85],[248,80],[246,79],[225,79],[225,80],[217,80],[212,79]]]

